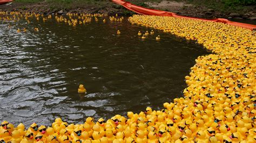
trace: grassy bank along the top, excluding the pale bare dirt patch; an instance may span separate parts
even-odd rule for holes
[[[170,0],[165,0],[170,1]],[[175,7],[172,5],[165,7],[151,7],[145,2],[158,4],[161,0],[127,0],[133,4],[143,6],[145,8],[159,9],[171,11],[183,16],[199,17],[199,18],[227,18],[230,13],[239,13],[242,18],[256,16],[255,0],[172,0],[183,2],[193,6]],[[171,2],[171,1],[170,1]],[[174,8],[175,7],[175,8]],[[125,9],[123,6],[114,4],[107,0],[16,0],[10,6],[2,6],[0,10],[4,11],[31,11],[37,13],[52,12],[84,12],[84,13],[107,13],[109,15],[131,16],[134,12]],[[211,11],[206,12],[208,9]],[[248,13],[248,15],[245,15]]]

